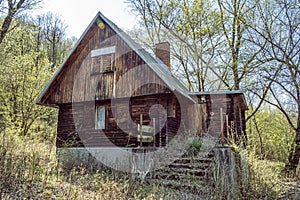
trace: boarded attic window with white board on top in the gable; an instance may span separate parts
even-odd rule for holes
[[[91,75],[113,72],[116,46],[105,47],[91,51],[92,70]]]

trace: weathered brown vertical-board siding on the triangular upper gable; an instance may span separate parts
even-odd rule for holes
[[[95,71],[95,58],[91,51],[105,47],[116,47],[112,62],[104,59],[104,64],[113,65],[110,71]],[[93,65],[94,64],[94,65]],[[104,29],[93,26],[80,45],[65,63],[62,71],[41,99],[42,104],[57,105],[71,102],[106,100],[118,97],[143,96],[165,93],[167,87],[163,81],[144,66],[145,62],[107,25]],[[139,77],[126,76],[130,69],[136,69]],[[148,84],[136,91],[131,91],[141,81]],[[116,84],[122,86],[116,88]],[[115,91],[117,90],[117,91]]]

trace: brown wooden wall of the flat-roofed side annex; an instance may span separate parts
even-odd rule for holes
[[[233,136],[236,141],[237,136],[246,136],[246,107],[241,95],[198,95],[198,102],[203,113],[198,119],[201,132],[220,138],[223,131],[225,138]]]

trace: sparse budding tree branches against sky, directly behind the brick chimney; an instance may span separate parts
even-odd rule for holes
[[[127,0],[141,16],[152,46],[171,39],[173,72],[184,79],[192,91],[227,85],[222,72],[213,67],[220,44],[219,15],[211,1]],[[221,83],[220,83],[221,82]]]

